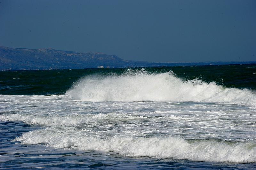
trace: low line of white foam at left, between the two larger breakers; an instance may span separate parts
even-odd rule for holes
[[[55,115],[55,114],[0,114],[0,120],[2,121],[22,121],[26,124],[32,125],[44,125],[44,126],[83,126],[86,123],[113,123],[114,121],[136,121],[148,119],[144,116],[131,116],[127,114],[76,114],[70,113],[67,115]],[[179,119],[175,116],[165,116],[163,119]]]

